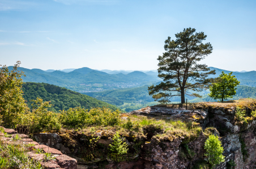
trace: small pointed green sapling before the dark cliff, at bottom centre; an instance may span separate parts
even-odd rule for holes
[[[120,137],[119,132],[116,132],[113,136],[113,143],[109,145],[109,157],[116,162],[123,161],[123,155],[127,154],[129,150],[127,146],[125,141]]]

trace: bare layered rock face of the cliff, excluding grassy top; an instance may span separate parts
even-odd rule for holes
[[[171,108],[164,105],[148,106],[130,112],[130,115],[146,115],[165,119],[193,121],[194,125],[202,127],[194,139],[187,141],[182,136],[172,140],[157,140],[149,131],[146,137],[134,141],[129,135],[123,135],[126,143],[133,149],[138,143],[139,149],[133,150],[133,156],[123,162],[114,162],[108,157],[105,150],[112,143],[113,134],[108,131],[96,131],[100,139],[97,144],[101,146],[97,158],[87,156],[89,149],[88,135],[70,132],[42,133],[34,135],[39,144],[58,149],[78,161],[78,168],[208,168],[204,157],[204,143],[207,139],[206,132],[220,136],[225,156],[225,162],[215,168],[256,168],[256,121],[251,117],[255,110],[255,103],[246,105],[246,122],[236,120],[236,106],[240,103],[204,103],[194,106],[193,109]],[[186,141],[186,143],[184,143]],[[93,152],[92,152],[93,153]],[[101,154],[101,155],[100,155]],[[233,164],[236,164],[234,166]]]

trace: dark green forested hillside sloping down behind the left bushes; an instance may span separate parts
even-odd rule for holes
[[[35,100],[37,97],[40,97],[44,101],[51,101],[51,104],[53,104],[51,110],[54,112],[75,108],[77,106],[86,109],[103,106],[108,106],[113,110],[118,109],[116,106],[105,103],[104,101],[53,84],[26,82],[23,84],[22,90],[24,91],[23,97],[29,107],[31,107],[32,103],[30,100]]]

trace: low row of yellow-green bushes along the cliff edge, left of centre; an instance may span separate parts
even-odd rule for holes
[[[89,111],[73,108],[62,110],[59,119],[62,124],[70,127],[113,126],[120,123],[120,111],[109,108],[93,108]]]

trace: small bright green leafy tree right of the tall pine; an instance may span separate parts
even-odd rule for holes
[[[224,99],[232,98],[233,95],[236,95],[236,86],[239,85],[240,82],[237,81],[237,78],[232,75],[232,73],[233,72],[225,74],[222,72],[220,74],[216,83],[212,83],[212,86],[210,86],[210,97],[223,101]]]

